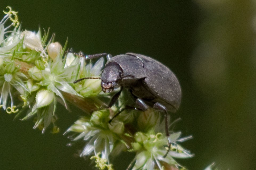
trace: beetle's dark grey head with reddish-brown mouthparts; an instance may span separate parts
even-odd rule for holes
[[[101,87],[104,93],[114,90],[117,81],[121,79],[122,68],[115,62],[107,63],[101,74]]]

